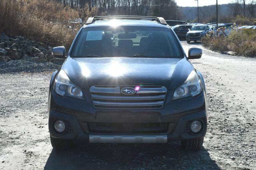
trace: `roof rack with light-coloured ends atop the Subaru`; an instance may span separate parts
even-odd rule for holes
[[[160,24],[167,25],[166,21],[162,17],[153,17],[153,16],[94,16],[88,18],[86,25],[92,24],[96,20],[110,20],[110,19],[130,19],[130,20],[152,20],[159,22]]]

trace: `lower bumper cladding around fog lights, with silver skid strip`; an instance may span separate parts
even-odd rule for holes
[[[54,120],[63,120],[68,122],[67,129],[64,133],[57,133],[52,126]],[[188,129],[190,122],[200,120],[203,123],[203,129],[198,134],[193,134]],[[86,134],[82,131],[78,120],[73,115],[59,113],[56,111],[50,112],[49,131],[50,135],[55,138],[63,138],[68,140],[85,141],[91,143],[166,143],[168,141],[181,141],[193,138],[201,138],[206,134],[207,120],[206,112],[192,113],[180,117],[177,126],[171,134],[134,134],[134,135],[108,135],[108,134]]]

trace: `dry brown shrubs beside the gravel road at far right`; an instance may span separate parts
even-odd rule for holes
[[[246,57],[256,56],[256,30],[253,29],[232,30],[228,37],[206,36],[202,42],[205,47],[214,51],[232,51],[235,55]]]

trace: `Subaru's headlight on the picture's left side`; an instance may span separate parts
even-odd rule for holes
[[[60,70],[58,73],[53,89],[55,93],[60,96],[68,96],[84,100],[82,90],[70,81],[64,70]]]

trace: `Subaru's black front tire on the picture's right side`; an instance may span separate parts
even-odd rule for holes
[[[181,141],[181,147],[185,150],[200,150],[203,146],[204,137]]]

